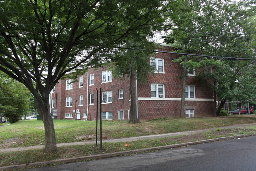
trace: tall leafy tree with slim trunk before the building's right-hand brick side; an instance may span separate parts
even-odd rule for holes
[[[247,51],[248,48],[246,44],[249,45],[248,41],[243,41],[245,39],[232,39],[232,37],[250,38],[252,30],[246,31],[246,29],[249,30],[248,28],[250,28],[246,22],[248,22],[247,18],[250,15],[255,15],[255,2],[243,0],[239,2],[233,2],[231,0],[182,1],[183,3],[178,5],[177,11],[170,15],[170,23],[175,27],[171,32],[171,37],[166,39],[167,42],[172,43],[173,46],[178,48],[178,51],[198,55],[253,57],[252,49],[250,49],[251,53]],[[247,26],[247,28],[245,26]],[[244,49],[241,48],[240,44],[245,48],[246,53],[244,50],[240,50]],[[237,46],[239,46],[239,48],[236,48]],[[215,61],[215,59],[184,55],[176,62],[181,63],[183,67],[180,112],[180,117],[182,118],[185,117],[184,104],[187,72],[192,69],[197,69],[197,71],[201,71],[204,76],[208,75],[208,77],[205,77],[205,79],[208,79],[208,82],[205,83],[212,83],[210,85],[214,91],[219,90],[220,87],[226,86],[226,83],[223,81],[224,79],[226,79],[225,81],[232,82],[230,88],[232,88],[233,83],[236,82],[236,77],[234,77],[235,73],[233,72],[234,61],[223,60],[220,63]],[[213,74],[212,71],[216,71],[217,68],[225,69],[222,70],[222,74],[221,72],[219,72],[218,75],[216,73]],[[233,75],[225,77],[230,73]],[[222,78],[222,76],[224,77]],[[202,77],[203,76],[200,75],[200,79],[202,79]],[[227,78],[229,80],[227,80]],[[205,79],[204,81],[206,81]],[[222,95],[220,91],[218,92],[219,95]],[[222,96],[219,97],[223,99]],[[216,99],[216,96],[214,99]]]

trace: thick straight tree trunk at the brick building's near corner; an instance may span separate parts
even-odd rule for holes
[[[134,68],[131,66],[130,74],[130,96],[131,96],[131,108],[130,108],[130,121],[129,123],[135,124],[140,123],[137,117],[137,108],[136,108],[136,96],[135,96],[135,74]]]

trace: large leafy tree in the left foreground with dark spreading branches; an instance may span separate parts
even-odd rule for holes
[[[130,35],[152,35],[164,0],[2,0],[0,70],[35,97],[45,151],[57,149],[49,93],[65,74],[108,60]],[[158,25],[160,24],[160,25]]]

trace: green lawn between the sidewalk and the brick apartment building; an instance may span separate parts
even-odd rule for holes
[[[99,134],[98,121],[98,134]],[[165,118],[165,120],[143,121],[130,125],[127,121],[102,121],[104,138],[126,138],[152,134],[191,131],[228,125],[256,123],[255,115],[228,116],[216,118]],[[1,124],[0,124],[1,126]],[[79,142],[82,137],[95,140],[96,121],[54,120],[57,143]],[[15,141],[8,147],[26,147],[45,144],[43,121],[22,120],[11,125],[0,127],[0,147],[6,148],[6,142]]]

